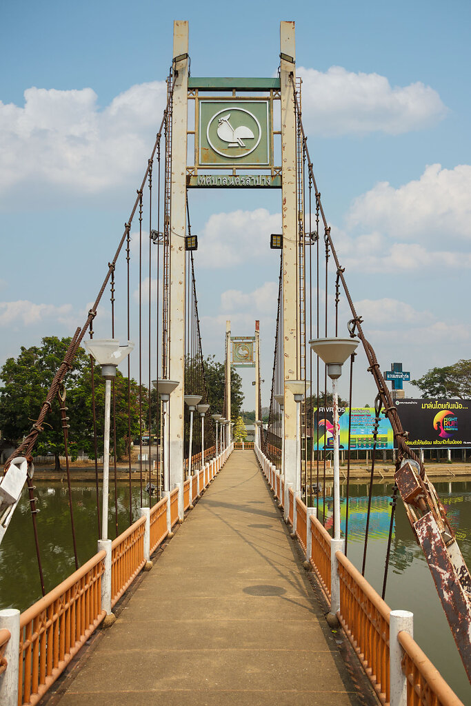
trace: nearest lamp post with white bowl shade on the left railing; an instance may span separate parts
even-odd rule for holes
[[[103,498],[102,498],[102,539],[108,539],[108,492],[109,492],[109,419],[111,417],[111,381],[116,377],[117,366],[134,347],[131,341],[124,345],[116,338],[83,341],[85,349],[102,368],[105,378],[105,430],[103,434]],[[116,449],[114,449],[116,453]]]

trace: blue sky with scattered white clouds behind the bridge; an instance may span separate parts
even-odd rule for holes
[[[0,364],[43,335],[70,335],[95,298],[160,124],[175,18],[190,23],[193,76],[272,76],[279,22],[296,21],[314,170],[382,369],[403,361],[418,377],[471,357],[470,4],[293,9],[183,2],[175,17],[139,0],[4,1]],[[280,192],[190,199],[205,352],[222,357],[226,318],[238,335],[259,318],[265,404],[278,280],[267,236]],[[366,375],[354,390],[372,404]]]

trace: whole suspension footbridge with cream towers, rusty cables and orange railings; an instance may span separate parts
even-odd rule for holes
[[[198,78],[189,68],[188,23],[178,21],[167,105],[124,232],[36,421],[4,468],[0,539],[12,531],[8,525],[24,486],[42,598],[22,612],[0,611],[0,702],[458,705],[462,702],[427,658],[427,646],[415,642],[407,606],[391,610],[387,602],[395,508],[402,502],[470,677],[470,573],[423,459],[407,445],[407,431],[347,287],[304,132],[294,23],[280,25],[276,78]],[[254,336],[234,337],[227,323],[221,332],[222,378],[208,380],[188,198],[189,190],[208,188],[281,193],[282,233],[271,243],[280,250],[280,270],[266,431],[258,325]],[[133,277],[138,278],[137,316]],[[131,343],[135,326],[138,340]],[[127,340],[120,345],[115,333],[122,328]],[[334,351],[330,357],[326,345]],[[77,419],[69,381],[83,346],[90,354],[97,553],[81,562],[69,453]],[[131,357],[138,369],[136,394]],[[340,498],[336,380],[345,366],[352,409],[352,377],[362,360],[377,396],[362,566],[354,566],[348,558],[351,430],[344,446],[345,498]],[[127,378],[117,373],[119,364],[127,367]],[[233,439],[234,364],[255,368],[253,444]],[[100,373],[103,400],[97,390]],[[328,408],[330,380],[332,497],[328,420],[316,416],[319,401]],[[123,384],[124,397],[119,395]],[[34,457],[54,411],[64,440],[76,570],[49,586]],[[123,413],[129,527],[120,533],[117,459]],[[365,567],[381,419],[390,424],[396,452],[380,595]],[[133,433],[140,452],[137,472],[131,461]],[[154,446],[155,472],[143,466],[145,446],[149,458]],[[131,503],[136,479],[138,517]],[[113,497],[114,511],[108,506]]]

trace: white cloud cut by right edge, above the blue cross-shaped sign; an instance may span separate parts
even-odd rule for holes
[[[395,189],[387,181],[354,200],[347,215],[349,227],[380,230],[397,240],[431,235],[446,239],[471,238],[471,165],[442,169],[426,167],[422,176]]]

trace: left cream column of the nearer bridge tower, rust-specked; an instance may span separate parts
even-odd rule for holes
[[[169,378],[179,385],[170,397],[170,489],[183,484],[185,281],[186,281],[186,131],[188,125],[188,22],[174,22],[175,80],[172,112],[172,206],[170,211]],[[180,58],[181,57],[181,58]],[[183,488],[183,486],[181,486]],[[183,493],[179,517],[183,516]]]

